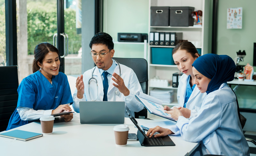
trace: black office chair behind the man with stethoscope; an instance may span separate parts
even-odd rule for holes
[[[118,63],[132,68],[140,82],[143,93],[148,94],[148,62],[144,58],[113,58]],[[135,118],[145,119],[148,117],[148,111],[144,107],[140,112],[134,113]]]

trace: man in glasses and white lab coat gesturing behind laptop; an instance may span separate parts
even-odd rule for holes
[[[139,112],[144,107],[134,96],[136,92],[142,92],[136,74],[131,68],[122,64],[119,66],[119,63],[112,59],[115,53],[114,43],[107,33],[94,35],[89,46],[96,67],[76,79],[74,111],[79,113],[80,101],[124,101],[125,109],[134,116],[134,112]]]

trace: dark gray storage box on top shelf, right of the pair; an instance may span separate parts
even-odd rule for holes
[[[170,7],[170,26],[171,27],[188,27],[194,25],[194,19],[191,17],[191,12],[194,7],[176,6]]]

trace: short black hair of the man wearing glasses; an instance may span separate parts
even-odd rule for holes
[[[114,49],[114,43],[113,43],[112,37],[109,34],[104,32],[97,33],[92,37],[92,40],[89,44],[89,47],[91,49],[92,49],[92,44],[105,44],[110,51]]]

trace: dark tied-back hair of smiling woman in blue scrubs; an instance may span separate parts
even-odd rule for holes
[[[40,62],[42,64],[45,55],[48,54],[48,52],[50,51],[57,52],[57,54],[60,56],[59,50],[51,43],[44,42],[36,45],[34,50],[34,60],[32,64],[33,73],[40,69],[40,67],[37,65],[37,62]]]

